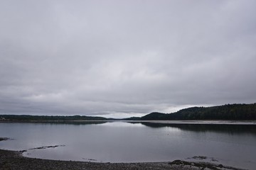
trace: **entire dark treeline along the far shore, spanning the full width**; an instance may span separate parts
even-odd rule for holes
[[[82,121],[82,120],[256,120],[256,103],[185,108],[176,113],[149,113],[142,118],[102,118],[86,115],[0,115],[0,121]]]

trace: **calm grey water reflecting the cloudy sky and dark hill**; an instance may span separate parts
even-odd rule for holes
[[[90,162],[206,161],[256,168],[256,125],[100,122],[0,123],[1,149],[43,159]],[[58,147],[49,147],[56,146]],[[46,147],[45,149],[33,149]]]

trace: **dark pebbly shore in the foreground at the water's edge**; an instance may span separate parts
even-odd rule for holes
[[[1,138],[7,140],[7,138]],[[238,170],[230,166],[222,164],[211,164],[207,162],[185,162],[176,160],[174,162],[149,162],[149,163],[95,163],[95,162],[73,162],[73,161],[55,161],[48,159],[33,159],[23,157],[22,152],[9,151],[0,149],[0,169],[1,170],[28,170],[28,169],[174,169],[174,170],[198,170],[198,169],[214,169],[214,170]]]

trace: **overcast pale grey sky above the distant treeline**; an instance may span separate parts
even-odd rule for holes
[[[254,0],[2,0],[0,114],[256,102]]]

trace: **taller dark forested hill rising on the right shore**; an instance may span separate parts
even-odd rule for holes
[[[256,120],[256,103],[185,108],[176,113],[150,113],[141,120]]]

